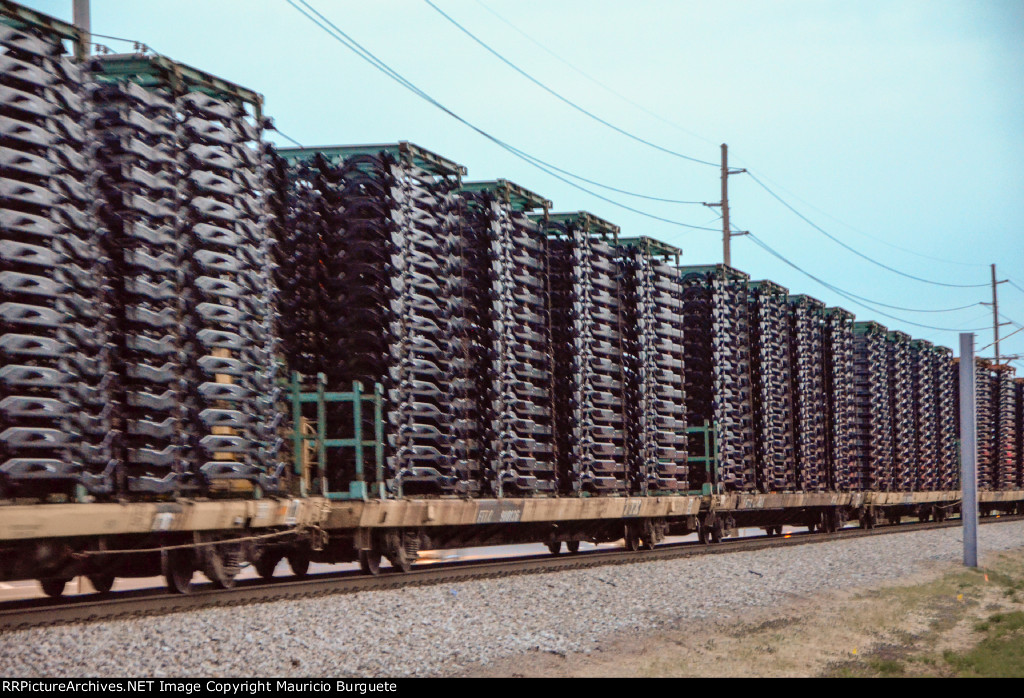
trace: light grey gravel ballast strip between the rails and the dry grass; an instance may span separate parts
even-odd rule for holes
[[[1024,522],[981,526],[979,537],[983,553],[1024,547]],[[447,674],[531,650],[589,652],[621,631],[739,619],[961,554],[961,530],[947,528],[32,628],[0,634],[0,674]]]

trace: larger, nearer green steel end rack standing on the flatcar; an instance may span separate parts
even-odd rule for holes
[[[303,491],[303,494],[319,494],[328,499],[369,499],[384,498],[384,389],[380,383],[374,384],[373,392],[368,392],[359,381],[352,382],[352,389],[347,392],[327,390],[327,378],[324,374],[316,375],[315,387],[312,391],[303,390],[302,377],[293,372],[290,382],[292,401],[292,441],[294,443],[295,473],[300,478],[303,474],[303,452],[308,443],[313,445],[316,453],[316,472],[310,473],[310,481],[318,481],[319,491]],[[352,436],[338,438],[328,435],[327,406],[331,403],[350,403],[352,406]],[[369,403],[373,409],[373,438],[364,438],[364,408]],[[311,422],[312,434],[303,433],[302,406],[316,405],[315,421]],[[327,463],[328,448],[352,448],[355,451],[355,477],[348,483],[347,491],[331,490],[324,466]],[[367,451],[372,452],[374,480],[367,480]],[[304,489],[310,483],[302,479]],[[316,488],[313,487],[315,490]]]

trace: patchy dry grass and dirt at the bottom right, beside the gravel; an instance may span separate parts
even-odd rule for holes
[[[1024,671],[1024,551],[880,590],[802,599],[724,622],[624,635],[598,651],[530,653],[470,675],[954,677]],[[1015,673],[1016,671],[1016,673]]]

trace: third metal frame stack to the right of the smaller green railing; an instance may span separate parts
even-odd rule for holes
[[[825,449],[824,304],[810,296],[790,297],[790,362],[796,482],[805,492],[827,486]]]

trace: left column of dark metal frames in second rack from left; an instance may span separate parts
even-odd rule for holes
[[[183,290],[173,97],[129,82],[90,85],[111,261],[113,400],[123,430],[120,488],[172,493],[193,485],[184,463]]]

